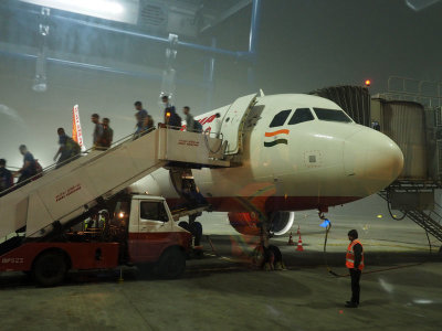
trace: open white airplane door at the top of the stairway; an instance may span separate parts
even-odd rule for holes
[[[242,145],[242,127],[250,109],[255,104],[257,94],[243,96],[234,100],[225,113],[221,125],[224,141],[228,142],[225,154],[236,154]]]

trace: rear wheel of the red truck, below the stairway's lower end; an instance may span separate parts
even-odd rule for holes
[[[55,286],[66,276],[67,264],[64,256],[56,252],[43,253],[34,261],[32,274],[35,281],[43,287]]]

